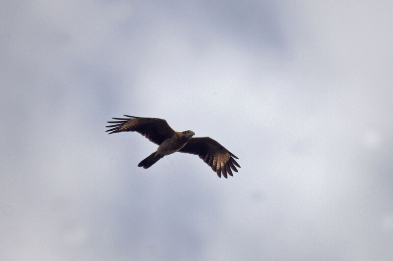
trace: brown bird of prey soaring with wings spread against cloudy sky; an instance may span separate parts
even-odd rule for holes
[[[124,115],[127,118],[112,118],[116,121],[108,121],[112,125],[106,130],[108,134],[136,131],[146,137],[150,142],[156,143],[157,150],[142,160],[138,166],[149,168],[164,156],[174,152],[183,152],[198,155],[208,166],[210,166],[218,177],[227,174],[233,176],[232,170],[240,165],[235,161],[239,159],[219,142],[209,137],[193,137],[195,133],[191,130],[174,131],[165,119],[142,118]]]

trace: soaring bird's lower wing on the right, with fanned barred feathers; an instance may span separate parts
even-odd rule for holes
[[[240,167],[234,159],[239,159],[238,157],[209,137],[192,138],[179,152],[198,155],[220,178],[221,173],[225,178],[226,173],[233,176],[231,169],[238,172],[235,166]]]

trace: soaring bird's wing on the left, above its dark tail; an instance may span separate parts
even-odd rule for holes
[[[165,119],[124,116],[128,118],[112,118],[117,119],[117,121],[108,121],[108,123],[113,123],[113,125],[106,126],[107,128],[111,128],[107,130],[110,131],[108,134],[122,131],[136,131],[149,139],[150,142],[158,145],[175,134],[175,131],[172,130]]]

